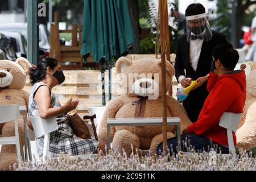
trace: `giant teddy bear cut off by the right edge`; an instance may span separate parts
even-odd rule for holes
[[[250,150],[256,146],[256,63],[251,64],[246,92],[245,107],[236,136],[237,147]]]

